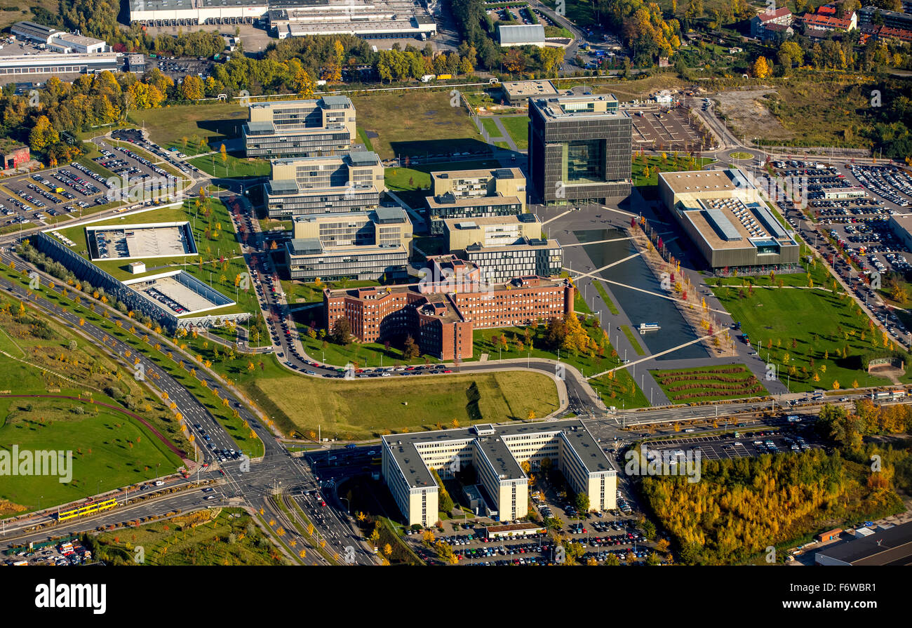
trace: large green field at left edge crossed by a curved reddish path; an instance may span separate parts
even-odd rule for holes
[[[173,445],[191,451],[171,411],[130,372],[67,328],[30,308],[20,317],[18,301],[0,299],[0,308],[7,304],[12,314],[0,311],[0,351],[6,354],[0,354],[0,392],[82,395],[86,401],[0,398],[0,447],[73,451],[70,483],[61,484],[56,476],[0,476],[0,515],[36,509],[42,496],[40,505],[47,508],[181,465],[179,456],[140,421],[98,404],[131,408]],[[98,403],[91,403],[88,393]]]

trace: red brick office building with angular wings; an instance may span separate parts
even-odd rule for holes
[[[529,325],[573,311],[574,288],[566,279],[488,284],[474,265],[448,261],[417,284],[324,290],[326,329],[344,317],[362,342],[410,335],[423,353],[454,360],[472,357],[473,329]]]

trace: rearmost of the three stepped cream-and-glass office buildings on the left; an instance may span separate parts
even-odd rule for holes
[[[355,106],[347,96],[258,102],[250,106],[243,134],[248,157],[336,155],[355,140]]]

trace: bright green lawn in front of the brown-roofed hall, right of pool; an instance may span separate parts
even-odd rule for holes
[[[845,295],[799,288],[754,288],[753,296],[741,288],[714,292],[741,321],[751,343],[760,341],[763,360],[778,366],[780,380],[788,382],[792,392],[834,389],[836,382],[839,388],[890,383],[862,368],[862,354],[883,344],[869,319]],[[909,375],[901,381],[910,381]]]

